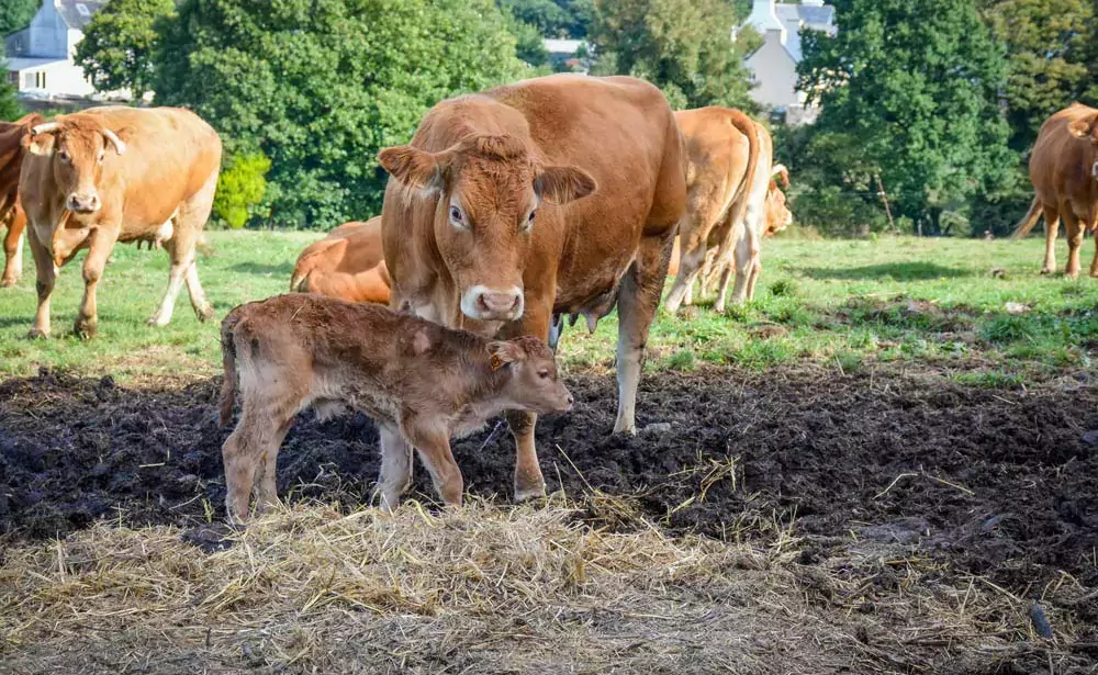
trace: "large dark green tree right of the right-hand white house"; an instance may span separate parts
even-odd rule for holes
[[[904,215],[948,232],[943,213],[1012,180],[1005,50],[971,0],[834,4],[838,34],[803,36],[798,87],[822,104],[815,133],[845,135]]]

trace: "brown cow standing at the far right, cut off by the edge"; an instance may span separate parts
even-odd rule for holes
[[[1056,269],[1056,235],[1060,218],[1064,218],[1067,235],[1064,273],[1075,279],[1079,274],[1083,235],[1098,228],[1098,110],[1073,103],[1041,125],[1030,157],[1030,180],[1037,196],[1015,229],[1013,238],[1029,234],[1044,215],[1041,273],[1049,274]],[[1098,277],[1098,238],[1095,246],[1091,277]]]

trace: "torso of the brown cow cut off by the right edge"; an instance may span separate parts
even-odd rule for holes
[[[1095,109],[1075,103],[1041,125],[1033,154],[1030,156],[1030,179],[1038,196],[1046,204],[1062,203],[1074,193],[1089,190],[1088,161],[1094,156],[1090,142],[1077,138],[1068,125],[1076,120],[1094,115]]]

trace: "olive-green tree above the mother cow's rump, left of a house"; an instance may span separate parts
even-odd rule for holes
[[[675,108],[754,108],[743,56],[758,34],[743,31],[732,42],[739,18],[728,0],[596,0],[596,72],[645,78]]]

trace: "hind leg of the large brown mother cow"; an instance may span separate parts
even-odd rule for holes
[[[617,381],[615,434],[637,432],[637,386],[645,364],[648,331],[660,304],[668,274],[674,228],[662,237],[642,237],[637,258],[618,291]]]

